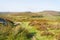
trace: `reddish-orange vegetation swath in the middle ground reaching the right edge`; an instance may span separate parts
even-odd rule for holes
[[[52,22],[52,24],[49,24],[48,22]],[[29,23],[30,26],[34,26],[37,28],[37,30],[47,30],[47,28],[50,29],[60,29],[59,24],[55,24],[55,21],[51,20],[31,20]]]

